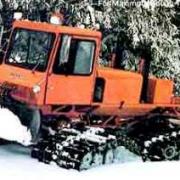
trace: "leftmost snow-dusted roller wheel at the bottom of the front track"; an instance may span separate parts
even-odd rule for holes
[[[93,156],[91,152],[87,152],[81,162],[80,162],[80,166],[79,166],[79,170],[86,170],[86,169],[90,169],[91,168],[91,164],[92,164],[92,160],[93,160]]]

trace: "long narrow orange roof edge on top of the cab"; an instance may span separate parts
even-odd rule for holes
[[[81,29],[77,27],[54,25],[50,23],[43,23],[43,22],[36,22],[29,20],[14,21],[13,27],[14,28],[20,27],[24,29],[39,30],[39,31],[51,32],[51,33],[66,33],[77,36],[80,35],[80,36],[88,36],[88,37],[96,37],[96,38],[101,38],[102,36],[100,32],[90,29]]]

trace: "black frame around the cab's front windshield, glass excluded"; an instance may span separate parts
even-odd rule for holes
[[[42,69],[39,69],[38,67],[36,68],[35,71],[38,71],[38,72],[46,72],[47,69],[48,69],[48,64],[49,64],[49,59],[51,57],[51,53],[52,53],[52,50],[53,50],[53,47],[54,47],[54,43],[56,41],[56,33],[53,33],[53,32],[46,32],[46,31],[41,31],[41,30],[35,30],[35,29],[26,29],[26,28],[19,28],[19,27],[16,27],[13,29],[13,32],[11,34],[11,37],[10,37],[10,41],[9,43],[11,43],[13,41],[13,38],[14,38],[14,33],[16,33],[17,30],[25,30],[25,31],[31,31],[31,32],[40,32],[40,33],[47,33],[47,34],[50,34],[52,35],[52,39],[51,39],[51,44],[50,44],[50,50],[49,52],[47,53],[47,60],[46,60],[46,64],[44,66],[44,68]],[[7,51],[6,51],[6,54],[5,54],[5,58],[4,58],[4,64],[6,65],[10,65],[10,66],[14,66],[14,67],[19,67],[19,68],[22,68],[22,69],[27,69],[27,70],[30,70],[32,71],[33,68],[29,68],[28,66],[24,66],[24,65],[21,65],[21,64],[12,64],[10,62],[8,62],[7,58],[10,56],[10,53],[12,51],[11,49],[11,45],[9,44],[8,45],[8,48],[7,48]],[[36,65],[34,65],[36,66]]]

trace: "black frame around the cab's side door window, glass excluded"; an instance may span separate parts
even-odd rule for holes
[[[81,73],[74,73],[74,72],[68,72],[68,73],[65,73],[63,71],[56,71],[55,70],[55,66],[58,64],[58,58],[60,56],[60,51],[61,51],[61,47],[62,47],[62,39],[63,39],[63,36],[70,36],[71,37],[71,41],[72,40],[78,40],[78,41],[84,41],[84,42],[92,42],[93,45],[94,45],[94,54],[92,55],[92,63],[91,63],[91,71],[87,74],[81,74]],[[93,74],[93,71],[94,71],[94,63],[95,63],[95,57],[96,57],[96,50],[97,50],[97,43],[96,43],[96,40],[91,38],[91,37],[87,37],[86,39],[84,39],[82,36],[73,36],[73,35],[70,35],[70,34],[61,34],[60,35],[60,40],[59,40],[59,43],[57,45],[57,51],[56,51],[56,55],[55,55],[55,60],[54,60],[54,63],[52,65],[52,72],[53,74],[55,75],[65,75],[65,76],[91,76]],[[68,59],[69,61],[69,59]]]

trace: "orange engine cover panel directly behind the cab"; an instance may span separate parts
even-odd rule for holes
[[[105,80],[103,104],[138,104],[142,88],[142,76],[137,73],[99,68],[98,76]]]

